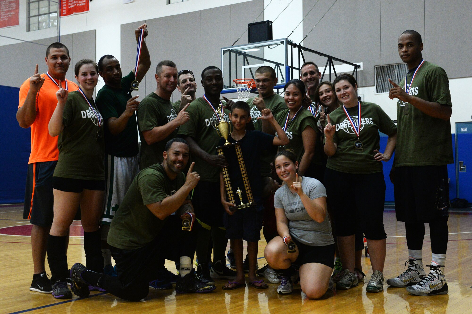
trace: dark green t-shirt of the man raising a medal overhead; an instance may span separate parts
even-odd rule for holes
[[[131,71],[121,79],[121,88],[105,85],[97,93],[98,110],[105,120],[105,153],[116,157],[133,157],[139,153],[136,116],[130,116],[125,129],[117,135],[111,134],[108,119],[119,118],[126,110],[126,102],[131,98],[131,82],[135,74]]]

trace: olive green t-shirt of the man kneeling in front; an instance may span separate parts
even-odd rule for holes
[[[141,170],[111,221],[108,244],[132,250],[151,242],[159,234],[167,218],[160,220],[146,205],[173,195],[184,183],[185,174],[177,174],[174,180],[170,180],[161,164]]]

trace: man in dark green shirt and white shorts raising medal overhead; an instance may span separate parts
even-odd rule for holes
[[[136,41],[143,32],[148,35],[147,25],[135,30]],[[111,254],[107,244],[107,234],[118,207],[123,200],[138,167],[138,133],[135,111],[139,96],[131,97],[131,82],[141,82],[151,66],[151,59],[146,42],[143,41],[141,58],[137,69],[122,77],[121,66],[117,58],[105,55],[98,62],[99,74],[105,86],[97,93],[95,103],[105,120],[105,178],[106,193],[103,215],[101,216],[102,253],[105,272],[113,273]],[[137,75],[135,75],[137,73]]]

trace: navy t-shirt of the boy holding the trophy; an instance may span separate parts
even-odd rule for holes
[[[246,130],[244,137],[238,140],[241,144],[249,184],[257,205],[262,205],[261,152],[272,148],[273,141],[273,135],[261,131],[249,130]],[[228,136],[228,142],[236,143],[236,140],[233,140],[231,134]],[[224,143],[225,140],[222,138],[219,145],[222,146]],[[236,157],[236,149],[234,146],[231,146],[223,149],[223,153],[228,161],[229,178],[231,179],[231,187],[233,188],[233,194],[236,198],[236,205],[240,204],[239,197],[236,194],[238,187],[243,191],[243,202],[247,203],[247,197],[244,193],[243,177],[241,176]]]

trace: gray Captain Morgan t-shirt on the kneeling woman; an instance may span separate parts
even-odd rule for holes
[[[316,179],[302,177],[302,189],[310,199],[326,197],[325,187]],[[334,244],[328,213],[322,223],[314,221],[298,194],[292,193],[287,184],[275,192],[274,207],[284,209],[290,235],[300,243],[314,247]]]

